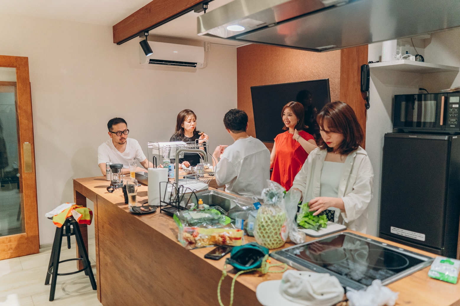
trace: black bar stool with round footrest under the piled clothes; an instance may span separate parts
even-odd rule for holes
[[[49,218],[52,219],[52,218]],[[65,228],[65,231],[64,231]],[[61,245],[62,245],[62,238],[63,236],[67,236],[67,248],[70,249],[70,236],[75,235],[75,240],[77,242],[77,247],[80,252],[81,258],[70,258],[63,261],[59,261],[59,256],[61,256]],[[57,269],[59,264],[66,261],[72,260],[81,260],[83,261],[83,269],[69,272],[69,273],[57,273]],[[48,270],[46,273],[46,280],[45,285],[50,284],[51,280],[51,290],[50,290],[50,301],[54,300],[54,292],[56,290],[56,278],[57,275],[70,275],[85,271],[85,274],[88,275],[89,280],[91,282],[91,286],[93,290],[96,290],[96,280],[94,279],[94,275],[91,269],[91,263],[89,261],[88,252],[86,252],[85,244],[83,242],[83,238],[81,237],[80,227],[78,222],[75,220],[74,217],[68,217],[65,219],[65,222],[62,227],[56,228],[56,234],[54,234],[54,242],[53,247],[51,250],[50,256],[50,263],[48,264]]]

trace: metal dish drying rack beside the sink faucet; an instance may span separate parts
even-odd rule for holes
[[[153,160],[156,156],[161,156],[162,160],[164,159],[176,159],[176,152],[179,149],[204,149],[208,156],[213,156],[209,154],[209,142],[204,142],[198,144],[198,139],[195,142],[148,142],[148,155],[149,160]],[[152,157],[150,157],[150,154]],[[179,154],[179,158],[184,158],[184,152]],[[177,164],[177,161],[176,161]],[[207,166],[204,166],[207,167]],[[175,211],[187,209],[190,199],[192,196],[196,197],[196,202],[198,203],[198,198],[195,194],[196,191],[206,190],[209,188],[209,182],[214,178],[214,169],[209,171],[209,169],[201,169],[197,167],[187,167],[179,172],[180,178],[178,178],[178,184],[176,185],[171,181],[160,182],[160,211],[166,213],[167,215],[173,216]],[[184,203],[184,196],[188,193],[190,194],[189,199]],[[182,205],[181,205],[182,203]],[[165,207],[168,206],[168,207]]]

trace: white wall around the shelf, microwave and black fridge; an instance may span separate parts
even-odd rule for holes
[[[460,66],[460,29],[432,33],[430,39],[414,41],[426,62]],[[420,45],[422,44],[422,45]],[[380,60],[381,43],[368,46],[369,61]],[[415,54],[414,49],[408,49]],[[403,52],[405,53],[405,52]],[[380,218],[380,187],[385,133],[393,130],[392,103],[394,95],[417,93],[419,88],[437,92],[460,85],[458,72],[417,74],[370,69],[370,109],[366,122],[366,151],[374,168],[374,197],[369,205],[368,233],[378,235]]]

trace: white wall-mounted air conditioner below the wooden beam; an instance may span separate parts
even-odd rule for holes
[[[204,48],[190,45],[178,45],[149,41],[153,54],[145,56],[139,47],[140,64],[155,66],[173,66],[203,68]]]

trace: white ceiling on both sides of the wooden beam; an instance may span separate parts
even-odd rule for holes
[[[22,15],[46,19],[68,20],[113,26],[151,0],[0,0],[0,14]],[[213,0],[208,11],[232,0]],[[196,35],[196,17],[203,13],[190,12],[152,31],[151,35],[199,39],[224,45],[243,45],[227,39]]]

